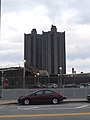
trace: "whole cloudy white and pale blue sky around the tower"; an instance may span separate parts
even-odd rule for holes
[[[24,59],[24,33],[65,31],[66,71],[90,72],[90,0],[2,0],[0,67]]]

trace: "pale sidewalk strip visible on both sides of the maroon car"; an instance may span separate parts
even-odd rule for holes
[[[87,102],[85,98],[68,98],[64,100],[64,102],[72,103],[72,102]],[[17,104],[17,100],[3,100],[0,99],[0,105],[9,105],[9,104]]]

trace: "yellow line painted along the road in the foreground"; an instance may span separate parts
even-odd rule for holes
[[[63,114],[19,114],[19,115],[1,115],[0,118],[29,118],[29,117],[64,117],[64,116],[84,116],[90,115],[90,112],[83,113],[63,113]]]

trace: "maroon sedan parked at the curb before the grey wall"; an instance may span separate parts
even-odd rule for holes
[[[62,94],[60,94],[59,92],[56,91],[52,91],[52,90],[38,90],[35,91],[33,93],[31,93],[30,95],[27,96],[21,96],[18,99],[18,103],[19,104],[25,104],[25,105],[29,105],[29,104],[34,104],[34,103],[53,103],[53,104],[57,104],[61,101],[63,101],[64,99],[66,99],[66,97],[64,97]]]

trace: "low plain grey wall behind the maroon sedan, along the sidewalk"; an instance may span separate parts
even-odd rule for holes
[[[39,89],[3,89],[0,99],[16,100],[20,96],[30,94],[31,92]],[[90,88],[62,88],[51,89],[62,93],[67,98],[86,98],[90,94]]]

